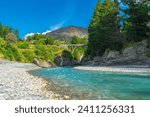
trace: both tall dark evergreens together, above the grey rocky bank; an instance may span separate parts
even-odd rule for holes
[[[125,42],[150,39],[149,2],[146,0],[98,1],[89,25],[88,54],[102,56],[107,49],[121,50]],[[124,15],[123,15],[124,14]]]

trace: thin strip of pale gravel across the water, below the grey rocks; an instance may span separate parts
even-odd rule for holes
[[[123,72],[123,73],[146,73],[150,74],[150,68],[147,66],[77,66],[74,69],[100,71],[100,72]]]

